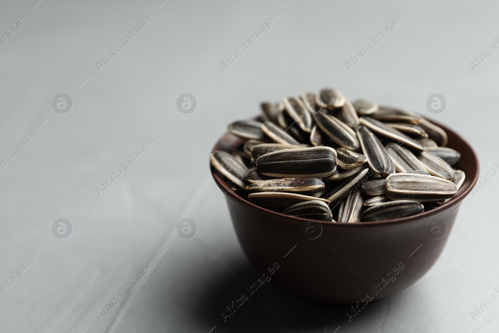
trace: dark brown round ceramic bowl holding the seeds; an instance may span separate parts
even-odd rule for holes
[[[447,203],[402,219],[346,224],[283,215],[250,203],[212,168],[250,262],[260,272],[277,263],[273,280],[298,296],[327,303],[365,305],[418,281],[440,256],[458,209],[479,176],[473,148],[450,128],[434,123],[447,132],[448,147],[461,153],[454,168],[463,170],[466,180]],[[232,152],[229,145],[241,143],[226,133],[213,151]]]

